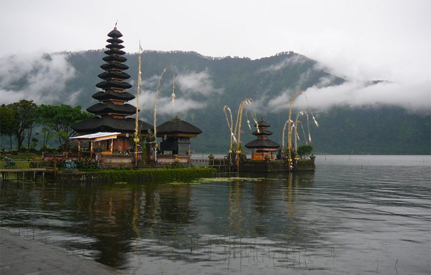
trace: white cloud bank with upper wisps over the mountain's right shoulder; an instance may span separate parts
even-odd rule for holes
[[[305,56],[294,55],[278,64],[262,69],[261,72],[275,72],[290,65],[304,63],[305,60],[307,60]],[[333,75],[322,77],[318,84],[306,89],[308,104],[305,96],[298,95],[294,101],[294,107],[307,108],[309,106],[317,110],[327,110],[336,105],[348,105],[355,108],[392,105],[413,112],[431,113],[431,75],[427,75],[428,69],[412,72],[411,68],[406,65],[405,70],[400,67],[386,68],[386,73],[382,74],[381,71],[384,70],[373,66],[367,70],[369,66],[351,65],[349,67],[345,62],[336,63],[341,67],[327,68],[320,62],[316,63],[300,75],[294,83],[294,89],[284,90],[274,98],[264,96],[256,101],[257,104],[271,112],[288,110],[291,96],[301,89],[314,70],[323,69]],[[346,82],[333,86],[334,75],[341,75]],[[379,78],[380,76],[384,78]],[[384,81],[372,84],[372,81],[377,79]]]

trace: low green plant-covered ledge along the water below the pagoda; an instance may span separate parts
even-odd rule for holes
[[[100,170],[57,173],[57,181],[175,181],[201,177],[214,177],[215,168],[191,167],[175,169]]]

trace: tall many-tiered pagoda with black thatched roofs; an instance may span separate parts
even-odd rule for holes
[[[99,135],[102,137],[95,139],[98,140],[98,144],[94,146],[101,147],[103,154],[126,152],[130,148],[131,139],[135,133],[136,121],[130,115],[136,113],[136,107],[127,103],[135,96],[125,92],[132,85],[125,81],[130,78],[130,75],[124,72],[129,67],[123,64],[127,59],[122,56],[125,54],[121,50],[124,48],[121,45],[124,42],[120,39],[122,36],[116,27],[108,33],[107,42],[109,44],[106,46],[108,50],[105,51],[107,56],[103,58],[107,63],[100,66],[105,72],[98,75],[103,81],[96,84],[96,87],[103,91],[93,95],[93,98],[99,103],[87,108],[87,111],[95,116],[72,126],[80,135],[103,132]],[[142,139],[142,136],[146,136],[148,129],[151,129],[152,126],[141,120],[138,125]],[[109,137],[109,133],[115,133],[116,138],[104,140],[104,134]]]

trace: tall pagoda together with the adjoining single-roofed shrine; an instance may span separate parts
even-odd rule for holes
[[[157,137],[162,138],[159,147],[153,126],[131,117],[139,110],[128,104],[135,96],[126,92],[132,85],[126,82],[130,75],[125,72],[129,67],[124,64],[127,59],[122,56],[125,54],[121,45],[123,40],[120,39],[122,34],[115,27],[108,37],[107,56],[103,58],[106,63],[100,66],[105,71],[98,75],[103,81],[96,84],[102,91],[93,95],[99,103],[87,108],[95,116],[72,126],[78,133],[71,138],[77,141],[78,154],[68,157],[89,156],[103,167],[118,164],[137,166],[138,163],[191,165],[190,138],[202,130],[175,117],[157,127]],[[136,129],[139,129],[138,135]]]

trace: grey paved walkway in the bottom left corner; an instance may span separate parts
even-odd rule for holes
[[[52,246],[0,229],[1,275],[126,275]]]

